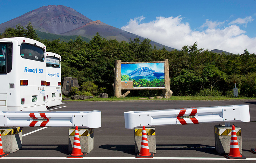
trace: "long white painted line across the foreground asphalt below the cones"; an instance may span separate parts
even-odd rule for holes
[[[153,157],[153,158],[135,158],[135,157],[83,157],[83,158],[68,158],[68,157],[2,157],[0,159],[137,159],[137,160],[229,160],[225,157]],[[256,161],[256,158],[242,159],[244,161]]]

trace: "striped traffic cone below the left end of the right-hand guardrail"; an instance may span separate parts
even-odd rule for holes
[[[140,153],[136,155],[136,158],[153,158],[154,154],[149,153],[148,138],[146,136],[146,128],[142,128],[142,143],[140,146]]]

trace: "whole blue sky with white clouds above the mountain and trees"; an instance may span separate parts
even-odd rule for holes
[[[0,23],[42,6],[64,5],[93,21],[181,49],[256,53],[255,0],[0,0]]]

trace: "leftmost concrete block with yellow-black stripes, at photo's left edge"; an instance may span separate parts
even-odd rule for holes
[[[21,127],[1,128],[2,147],[4,152],[13,153],[22,147]]]

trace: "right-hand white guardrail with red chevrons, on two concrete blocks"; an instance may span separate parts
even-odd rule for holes
[[[125,127],[198,124],[213,122],[250,122],[249,105],[124,112]]]

